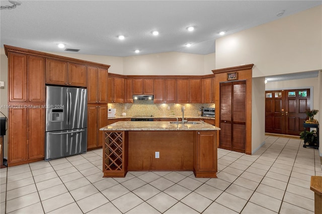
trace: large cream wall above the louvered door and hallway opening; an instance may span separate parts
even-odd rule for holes
[[[216,69],[254,64],[253,77],[322,68],[322,6],[216,40]]]

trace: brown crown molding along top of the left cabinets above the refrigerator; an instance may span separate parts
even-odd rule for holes
[[[32,56],[45,57],[47,59],[63,60],[63,61],[74,62],[74,63],[85,64],[85,65],[96,66],[96,67],[107,68],[107,69],[110,67],[110,65],[105,65],[101,63],[90,62],[90,61],[85,61],[81,59],[74,59],[70,57],[59,56],[55,54],[49,54],[45,52],[34,51],[34,50],[29,50],[24,48],[18,48],[18,47],[9,46],[9,45],[4,45],[4,47],[5,47],[5,53],[7,56],[9,52],[15,52],[15,53],[21,53],[21,54],[28,54]]]

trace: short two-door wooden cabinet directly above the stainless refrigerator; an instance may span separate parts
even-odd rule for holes
[[[46,83],[86,87],[86,70],[86,65],[46,59]]]

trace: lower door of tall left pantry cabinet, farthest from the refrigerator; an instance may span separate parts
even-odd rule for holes
[[[27,160],[27,109],[9,109],[8,163]]]

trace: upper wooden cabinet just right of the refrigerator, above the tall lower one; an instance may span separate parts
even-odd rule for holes
[[[88,67],[88,103],[107,103],[107,69]]]

